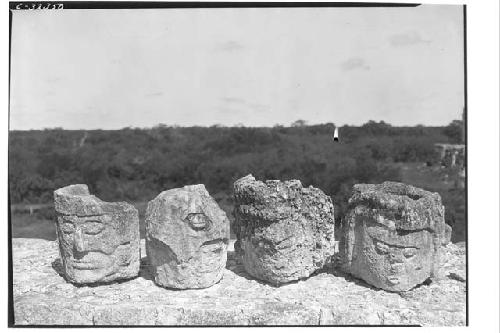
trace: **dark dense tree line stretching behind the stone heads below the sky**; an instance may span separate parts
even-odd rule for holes
[[[370,121],[341,127],[340,143],[334,143],[333,129],[295,122],[272,128],[11,131],[11,202],[48,203],[54,189],[76,183],[113,201],[148,201],[165,189],[198,183],[230,197],[232,183],[252,173],[259,179],[300,179],[344,203],[354,183],[400,180],[395,162],[432,161],[434,144],[456,137],[446,127]]]

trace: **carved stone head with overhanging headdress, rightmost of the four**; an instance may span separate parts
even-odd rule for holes
[[[353,276],[406,291],[437,275],[446,234],[439,194],[395,182],[354,185],[342,226],[341,262]]]

